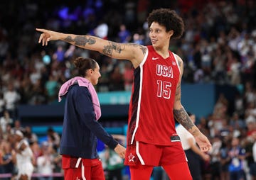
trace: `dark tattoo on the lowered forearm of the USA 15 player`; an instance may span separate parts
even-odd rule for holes
[[[189,118],[188,113],[186,113],[184,108],[174,109],[174,118],[178,120],[178,123],[181,123],[186,130],[191,129],[194,126],[194,123]]]

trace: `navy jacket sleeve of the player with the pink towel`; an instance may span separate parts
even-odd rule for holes
[[[118,142],[106,132],[102,125],[95,119],[95,112],[92,106],[92,97],[89,90],[84,86],[79,86],[75,94],[75,108],[80,115],[82,123],[91,130],[95,136],[114,149]]]

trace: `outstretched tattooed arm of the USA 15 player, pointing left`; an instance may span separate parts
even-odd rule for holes
[[[38,43],[42,45],[48,45],[50,40],[63,40],[66,43],[87,50],[95,50],[119,60],[130,60],[134,67],[139,66],[146,54],[146,47],[134,43],[115,43],[92,35],[65,34],[38,28],[36,30],[41,32]]]

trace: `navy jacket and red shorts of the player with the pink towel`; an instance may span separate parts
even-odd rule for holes
[[[110,148],[117,141],[96,120],[92,95],[85,86],[74,84],[65,94],[63,133],[60,154],[65,179],[105,179],[97,154],[97,138]]]

